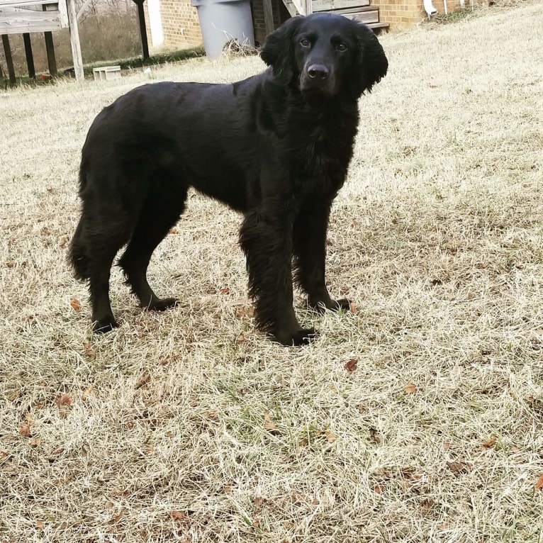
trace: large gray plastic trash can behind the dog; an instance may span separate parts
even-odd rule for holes
[[[191,0],[198,10],[208,58],[220,57],[225,43],[254,45],[250,0]]]

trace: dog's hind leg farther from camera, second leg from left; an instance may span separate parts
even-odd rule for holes
[[[157,180],[157,186],[159,189],[154,189],[143,204],[119,265],[142,308],[162,311],[175,306],[178,300],[159,298],[152,291],[147,282],[147,267],[153,251],[183,213],[188,187],[167,179]]]

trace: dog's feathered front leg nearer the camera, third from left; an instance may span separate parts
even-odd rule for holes
[[[240,245],[247,257],[249,294],[257,325],[283,345],[305,345],[315,335],[301,328],[293,309],[292,225],[284,201],[267,201],[245,215]]]

